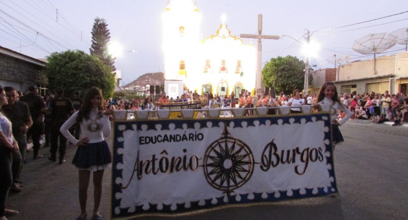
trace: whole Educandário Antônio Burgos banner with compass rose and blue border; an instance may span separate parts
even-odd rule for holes
[[[337,192],[329,114],[114,127],[113,218]]]

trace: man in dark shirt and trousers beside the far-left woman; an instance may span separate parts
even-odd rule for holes
[[[24,102],[18,101],[18,94],[16,89],[13,87],[4,87],[6,92],[8,104],[3,106],[2,110],[7,118],[11,121],[13,125],[13,136],[19,143],[20,154],[13,153],[13,164],[12,164],[12,174],[13,174],[13,185],[11,190],[13,192],[21,192],[19,184],[21,172],[23,170],[22,160],[25,160],[25,152],[27,150],[27,136],[26,133],[28,128],[31,127],[33,121],[30,115],[30,109],[28,105]]]

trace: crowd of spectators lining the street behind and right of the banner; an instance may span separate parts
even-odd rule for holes
[[[167,99],[162,99],[166,97]],[[106,105],[115,110],[155,110],[164,103],[183,104],[201,101],[203,107],[206,108],[253,108],[253,107],[279,107],[279,106],[300,106],[300,105],[315,105],[317,103],[317,96],[315,93],[303,95],[296,90],[292,94],[285,94],[281,92],[275,96],[271,93],[258,95],[256,102],[254,96],[248,90],[235,97],[232,92],[231,95],[218,95],[212,93],[198,94],[196,91],[188,91],[176,98],[166,96],[162,93],[156,100],[151,100],[151,97],[142,97],[140,99],[132,98],[131,100],[116,100],[109,99]],[[352,119],[371,120],[374,123],[384,123],[385,121],[395,122],[395,126],[400,125],[408,120],[408,98],[402,92],[396,94],[384,93],[363,93],[357,92],[340,93],[340,102],[353,112]],[[165,100],[165,101],[163,101]],[[146,104],[149,103],[149,104]],[[292,104],[294,103],[294,104]],[[293,112],[296,109],[293,108]],[[343,112],[338,112],[337,117],[342,118]]]

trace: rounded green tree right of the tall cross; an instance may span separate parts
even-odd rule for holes
[[[305,63],[296,57],[286,56],[272,58],[262,69],[262,81],[265,87],[290,94],[295,89],[300,91],[305,83]],[[309,84],[312,78],[309,77]]]

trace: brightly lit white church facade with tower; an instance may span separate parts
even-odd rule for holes
[[[168,1],[162,19],[165,80],[168,82],[165,91],[174,92],[168,85],[176,82],[183,85],[183,90],[196,90],[199,94],[234,92],[238,97],[242,89],[254,91],[256,48],[231,35],[225,16],[216,33],[207,38],[202,37],[201,14],[191,0]],[[179,90],[181,95],[183,91]]]

